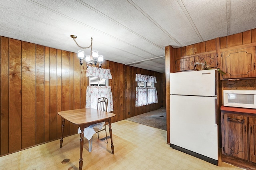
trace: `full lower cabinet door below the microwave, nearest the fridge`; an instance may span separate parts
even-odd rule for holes
[[[224,114],[224,152],[248,160],[247,117]]]

